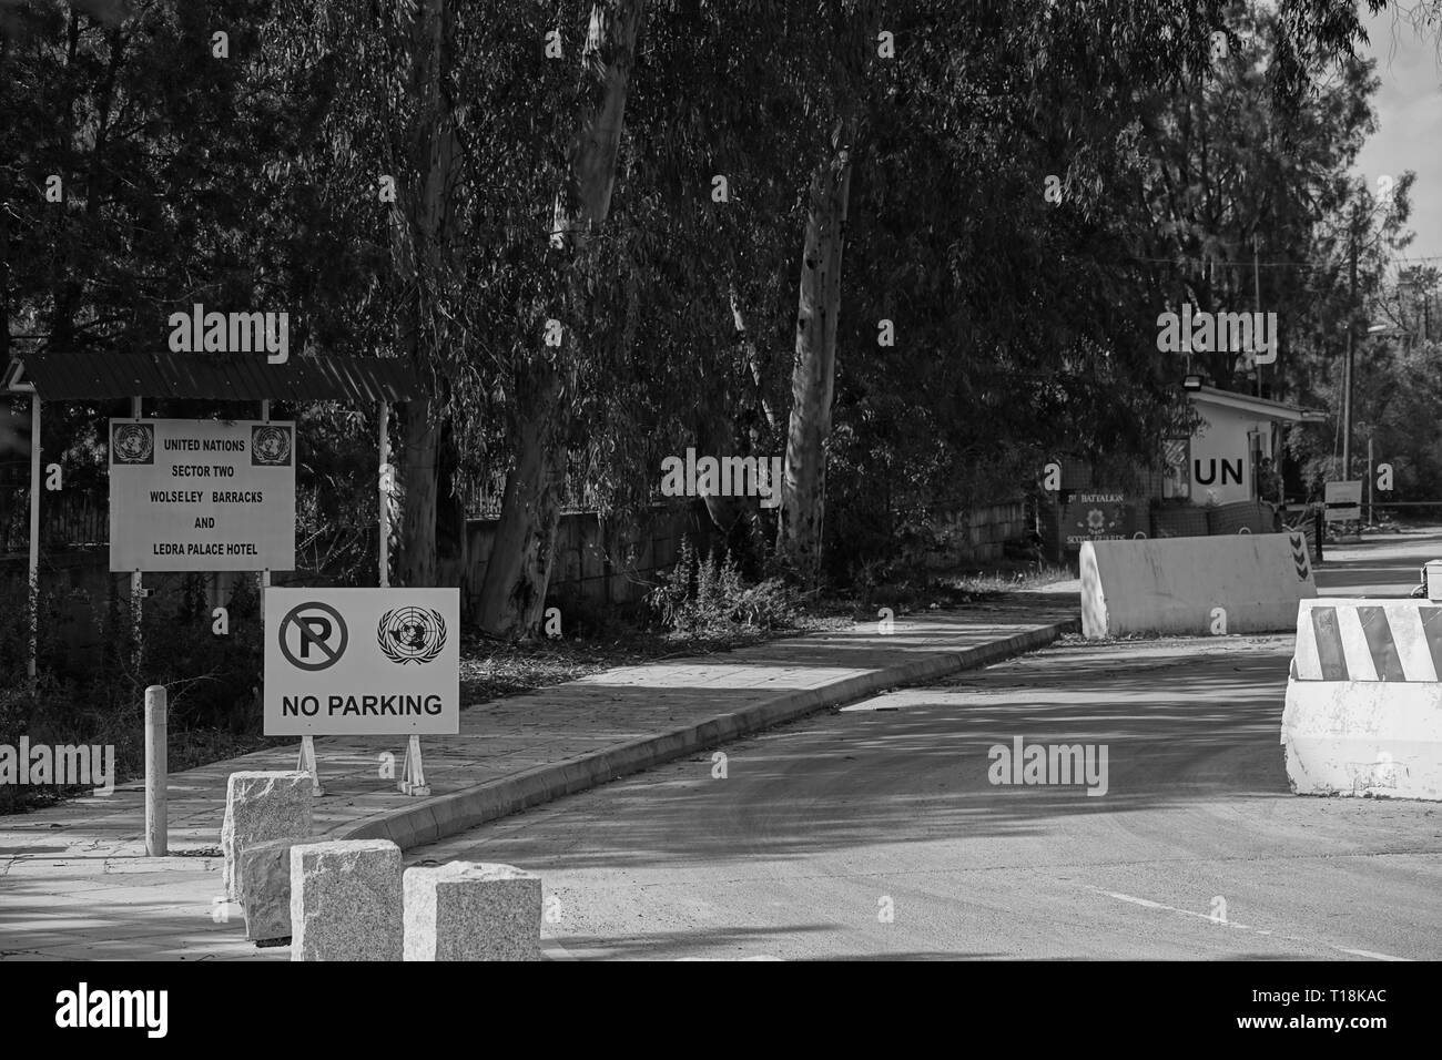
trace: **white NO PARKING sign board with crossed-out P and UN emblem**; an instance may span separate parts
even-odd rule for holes
[[[265,590],[265,736],[459,731],[459,588]]]

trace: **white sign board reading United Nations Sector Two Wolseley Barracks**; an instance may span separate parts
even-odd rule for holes
[[[296,424],[110,421],[112,571],[296,568]]]

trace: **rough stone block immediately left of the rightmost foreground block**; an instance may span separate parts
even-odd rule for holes
[[[401,848],[337,839],[290,848],[291,960],[399,960]]]

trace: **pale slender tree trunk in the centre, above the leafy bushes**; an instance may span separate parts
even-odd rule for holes
[[[826,508],[826,441],[836,375],[841,251],[851,195],[852,125],[841,123],[835,154],[812,177],[796,310],[792,417],[786,434],[777,551],[808,584],[820,577]]]

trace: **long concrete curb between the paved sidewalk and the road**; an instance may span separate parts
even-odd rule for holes
[[[575,795],[728,743],[763,728],[795,721],[808,714],[864,699],[885,688],[929,681],[956,671],[975,669],[1022,652],[1044,648],[1063,633],[1077,632],[1080,619],[1038,626],[1001,640],[960,652],[937,652],[901,666],[838,681],[825,688],[787,692],[731,714],[718,714],[692,725],[682,725],[655,736],[578,754],[548,766],[536,766],[515,776],[489,780],[448,795],[431,796],[414,806],[386,811],[332,829],[327,839],[389,839],[402,851],[464,832],[487,821],[518,813],[529,806]]]

